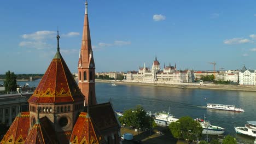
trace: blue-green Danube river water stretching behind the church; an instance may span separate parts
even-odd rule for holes
[[[28,82],[36,87],[39,81]],[[18,82],[24,85],[26,82]],[[96,83],[96,98],[98,103],[104,103],[111,98],[115,110],[125,111],[136,105],[142,105],[147,111],[168,111],[179,118],[190,116],[203,118],[226,129],[225,135],[235,136],[243,143],[253,143],[252,137],[237,135],[234,126],[243,127],[246,121],[256,121],[256,92],[218,91],[210,89],[182,89],[172,87],[132,86],[110,83]],[[205,100],[207,98],[207,100]],[[245,109],[237,113],[222,110],[206,109],[206,103],[236,105]]]

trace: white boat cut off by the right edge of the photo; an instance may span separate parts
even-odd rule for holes
[[[247,121],[245,127],[235,127],[237,134],[244,134],[256,137],[256,121]]]

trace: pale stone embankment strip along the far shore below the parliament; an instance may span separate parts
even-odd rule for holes
[[[156,87],[176,87],[176,88],[197,88],[197,89],[216,89],[228,91],[248,91],[256,92],[256,86],[240,86],[240,85],[217,85],[217,84],[199,84],[199,83],[181,83],[181,84],[164,84],[164,83],[142,83],[142,82],[126,82],[114,80],[95,80],[96,82],[110,83],[115,82],[120,85],[138,85],[138,86],[156,86]]]

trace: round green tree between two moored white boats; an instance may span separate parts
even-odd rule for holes
[[[178,121],[170,123],[168,126],[173,137],[189,141],[197,140],[202,136],[202,127],[199,122],[189,116],[181,117]]]

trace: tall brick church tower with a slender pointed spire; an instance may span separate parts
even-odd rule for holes
[[[78,59],[78,86],[83,93],[86,104],[96,105],[95,96],[95,64],[91,49],[91,37],[87,12],[87,1],[85,3],[84,29],[82,46]]]

